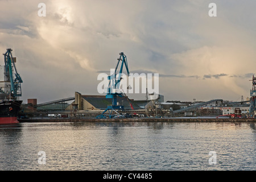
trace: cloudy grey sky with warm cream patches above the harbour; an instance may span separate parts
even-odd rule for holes
[[[212,2],[216,17],[208,15]],[[25,103],[98,94],[97,76],[115,67],[119,52],[131,73],[159,73],[165,101],[240,101],[256,72],[255,7],[255,0],[0,0],[0,49],[17,57]]]

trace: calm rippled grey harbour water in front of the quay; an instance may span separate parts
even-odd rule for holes
[[[39,151],[46,164],[39,164]],[[216,164],[209,164],[210,151]],[[256,123],[77,122],[0,126],[0,170],[255,170]]]

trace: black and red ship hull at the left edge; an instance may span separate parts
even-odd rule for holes
[[[19,123],[18,113],[22,101],[3,101],[0,102],[0,125]]]

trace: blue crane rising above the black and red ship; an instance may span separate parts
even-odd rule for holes
[[[11,97],[16,98],[22,96],[21,84],[23,81],[22,78],[19,76],[19,73],[17,72],[14,57],[11,54],[11,51],[13,50],[8,48],[6,53],[3,54],[5,56],[5,76],[7,77],[7,80],[10,81],[10,95]]]

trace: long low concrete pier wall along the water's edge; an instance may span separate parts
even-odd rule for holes
[[[18,119],[24,122],[256,122],[256,118],[32,118]]]

